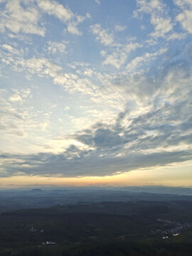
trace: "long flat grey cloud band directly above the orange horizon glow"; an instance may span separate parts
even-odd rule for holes
[[[141,152],[130,153],[127,156],[112,157],[107,155],[104,157],[98,156],[97,153],[83,154],[81,157],[73,157],[73,159],[66,159],[63,154],[53,155],[44,154],[36,155],[38,159],[38,166],[31,165],[30,168],[26,168],[26,164],[31,164],[33,156],[21,156],[17,155],[18,159],[27,159],[23,161],[19,166],[11,164],[6,165],[7,171],[1,174],[4,176],[18,175],[18,171],[21,174],[26,175],[43,175],[43,176],[106,176],[112,175],[116,172],[131,171],[139,168],[150,168],[154,166],[165,166],[175,162],[182,162],[190,160],[192,157],[192,151],[173,151],[173,152],[160,152],[152,154],[144,154]],[[15,163],[16,164],[16,163]]]

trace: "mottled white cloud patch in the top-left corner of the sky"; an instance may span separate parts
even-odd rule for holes
[[[0,31],[6,30],[12,33],[28,33],[38,36],[45,36],[46,27],[43,23],[42,11],[49,16],[55,16],[67,26],[67,31],[76,35],[82,33],[78,29],[79,23],[90,18],[90,14],[80,16],[73,14],[68,7],[59,4],[57,1],[50,0],[10,0],[6,2],[1,11]]]

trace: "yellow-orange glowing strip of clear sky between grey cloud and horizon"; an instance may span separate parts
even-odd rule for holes
[[[1,188],[33,186],[192,186],[192,163],[139,169],[113,176],[55,177],[55,176],[12,176],[1,178]]]

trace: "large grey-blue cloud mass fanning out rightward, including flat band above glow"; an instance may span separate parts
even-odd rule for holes
[[[112,81],[124,87],[127,106],[134,97],[139,110],[127,107],[110,124],[96,122],[79,130],[70,137],[80,145],[59,154],[1,154],[1,176],[106,176],[191,160],[191,47],[156,68]]]

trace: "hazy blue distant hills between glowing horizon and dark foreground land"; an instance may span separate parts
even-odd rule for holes
[[[130,187],[129,187],[130,188]],[[131,188],[130,188],[131,189]],[[43,208],[55,205],[68,205],[90,202],[129,202],[129,201],[191,201],[192,196],[148,193],[144,188],[132,187],[121,189],[101,188],[68,188],[68,189],[40,189],[0,191],[0,212],[21,208]],[[152,188],[149,188],[149,190]],[[139,190],[141,190],[139,192]],[[156,188],[157,190],[157,188]],[[161,188],[159,188],[161,190]],[[171,188],[170,188],[171,190]],[[190,189],[188,190],[190,191]]]

